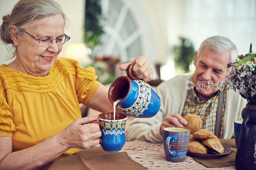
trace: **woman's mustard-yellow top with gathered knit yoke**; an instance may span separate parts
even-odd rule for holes
[[[26,149],[81,117],[100,82],[92,67],[58,58],[48,75],[35,77],[0,66],[0,137],[12,136],[12,150]],[[71,148],[65,155],[79,151]]]

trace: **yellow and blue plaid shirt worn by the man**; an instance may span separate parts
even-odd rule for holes
[[[184,107],[181,113],[181,116],[184,117],[187,114],[199,115],[202,120],[202,127],[214,133],[215,124],[216,124],[216,114],[218,110],[218,101],[219,101],[218,93],[208,100],[200,101],[196,95],[195,89],[188,90],[187,96],[185,99]],[[224,91],[224,100],[222,105],[222,117],[220,124],[220,138],[223,136],[223,124],[224,124],[224,111],[225,111],[225,103],[226,103],[226,91]]]

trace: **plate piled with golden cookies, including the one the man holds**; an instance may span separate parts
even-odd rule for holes
[[[183,118],[188,122],[185,128],[191,131],[188,154],[206,158],[223,156],[231,152],[228,146],[221,145],[214,133],[201,129],[202,121],[198,115],[189,114]]]

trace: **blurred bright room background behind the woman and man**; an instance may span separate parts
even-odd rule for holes
[[[76,59],[83,67],[94,66],[106,83],[124,74],[118,71],[120,63],[139,55],[151,62],[154,79],[191,72],[192,66],[184,70],[183,65],[191,65],[191,55],[214,35],[231,39],[239,54],[248,53],[250,43],[256,49],[255,0],[87,0],[87,6],[85,0],[56,1],[69,18],[65,33],[71,37],[59,56]],[[16,2],[0,0],[0,16],[10,13]],[[98,22],[93,27],[102,30],[97,41],[90,39],[96,32],[84,26],[90,4],[100,7],[100,15],[93,20]],[[0,64],[11,62],[6,58],[8,52],[1,43]]]

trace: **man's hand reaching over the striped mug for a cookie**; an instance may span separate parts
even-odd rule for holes
[[[182,127],[183,125],[188,124],[188,122],[178,114],[169,114],[164,117],[163,122],[161,124],[160,133],[163,136],[163,129],[166,127]]]

